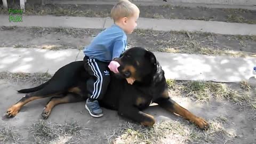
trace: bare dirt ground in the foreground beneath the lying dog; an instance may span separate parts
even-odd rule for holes
[[[231,89],[233,90],[241,90],[239,88],[239,84],[233,83],[228,85],[230,85]],[[18,134],[20,134],[20,142],[38,143],[38,141],[36,141],[37,135],[31,132],[29,127],[33,126],[33,124],[35,123],[38,123],[39,119],[42,119],[41,113],[50,98],[39,99],[27,103],[27,105],[25,105],[21,109],[20,113],[14,118],[7,119],[4,117],[6,109],[13,105],[13,103],[17,102],[21,97],[23,97],[23,94],[17,93],[17,90],[31,86],[35,86],[35,84],[32,84],[31,82],[22,82],[15,77],[9,80],[4,77],[0,79],[0,90],[2,92],[0,109],[1,115],[3,116],[0,120],[0,125],[2,129],[6,126],[13,127],[13,130],[17,131]],[[251,92],[252,95],[256,94],[255,86],[251,87]],[[204,143],[255,143],[256,113],[255,110],[253,110],[249,106],[244,105],[244,103],[235,104],[226,100],[215,100],[213,98],[210,98],[208,103],[202,103],[197,102],[196,99],[193,99],[193,97],[187,97],[186,94],[175,94],[172,89],[170,89],[170,95],[174,101],[178,102],[181,106],[187,108],[195,115],[204,117],[206,121],[212,122],[211,119],[223,117],[223,121],[221,121],[221,129],[218,128],[217,124],[217,126],[215,125],[216,127],[214,127],[214,125],[213,127],[211,127],[210,132],[204,133],[203,131],[198,130],[194,124],[189,123],[181,117],[170,114],[156,105],[150,106],[143,112],[153,115],[157,120],[157,123],[160,123],[162,121],[169,121],[171,123],[174,123],[175,125],[184,125],[183,127],[181,127],[180,131],[182,131],[182,129],[191,129],[194,131],[191,134],[200,134],[202,139],[205,140]],[[124,132],[118,133],[118,131],[131,131],[131,127],[127,125],[127,122],[132,124],[133,122],[118,116],[116,111],[103,108],[105,115],[101,118],[93,118],[89,115],[89,113],[87,113],[84,105],[85,102],[77,102],[55,106],[50,117],[47,120],[43,121],[53,124],[64,124],[67,122],[76,121],[79,126],[86,128],[86,130],[82,131],[84,135],[81,137],[81,143],[108,143],[108,139],[117,141],[118,137],[124,137],[125,135]],[[142,128],[142,130],[145,131],[146,129]],[[157,130],[157,127],[155,127],[155,130]],[[209,136],[211,134],[213,134],[213,136]],[[115,135],[115,137],[113,137],[113,135]],[[133,135],[133,133],[130,132],[130,135]],[[3,136],[1,130],[0,136]],[[64,136],[62,135],[62,137]],[[62,142],[55,143],[65,143],[65,139],[63,140],[62,137],[57,138],[59,140],[62,140]],[[77,135],[73,135],[72,137],[74,137],[73,139],[77,139]],[[124,139],[129,139],[129,135],[126,135],[125,137],[126,138]],[[183,138],[183,135],[181,133],[176,134],[176,137]],[[209,138],[206,139],[206,137]],[[2,137],[0,137],[0,140],[1,138]],[[198,143],[198,141],[201,140],[197,137],[195,137],[195,139],[196,140],[194,142],[176,139],[174,143]],[[54,139],[51,142],[54,143],[54,141],[58,140]],[[47,141],[44,142],[47,143]],[[163,143],[172,142],[173,139],[164,139],[163,141]],[[50,142],[48,141],[48,143]],[[66,140],[66,143],[73,143],[73,141]],[[148,143],[153,142],[151,141]],[[159,143],[159,141],[157,143]]]

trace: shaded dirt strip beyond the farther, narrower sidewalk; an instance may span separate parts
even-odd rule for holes
[[[12,3],[10,3],[12,4]],[[12,6],[12,7],[15,7]],[[28,15],[68,15],[80,17],[109,17],[113,5],[59,5],[26,4]],[[172,5],[141,6],[140,17],[155,19],[191,19],[206,21],[227,21],[256,23],[256,11],[243,9],[208,9],[205,7],[180,7]],[[0,13],[7,13],[1,10]]]

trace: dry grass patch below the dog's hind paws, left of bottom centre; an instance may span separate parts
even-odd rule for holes
[[[85,135],[82,131],[90,129],[79,126],[77,122],[52,124],[39,120],[29,130],[36,143],[79,143]]]

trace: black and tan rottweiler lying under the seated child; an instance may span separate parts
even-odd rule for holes
[[[119,73],[110,73],[111,80],[105,97],[99,100],[101,107],[116,110],[118,115],[144,126],[153,126],[154,117],[143,113],[142,110],[151,102],[155,102],[167,111],[194,122],[201,129],[209,128],[203,118],[190,113],[169,97],[164,70],[153,52],[142,47],[132,47],[115,61],[120,64]],[[126,82],[125,78],[128,77],[135,79],[132,85]],[[89,77],[83,68],[83,61],[71,62],[57,70],[53,77],[42,85],[19,90],[18,92],[27,94],[7,109],[6,116],[14,117],[26,103],[53,95],[61,97],[52,97],[47,103],[42,113],[45,119],[49,117],[52,108],[60,103],[85,101],[87,78]]]

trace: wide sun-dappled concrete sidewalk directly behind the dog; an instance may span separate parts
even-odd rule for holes
[[[0,71],[54,74],[69,62],[82,60],[79,50],[0,48]],[[165,77],[177,80],[240,82],[252,77],[256,58],[212,57],[196,54],[154,52]]]

